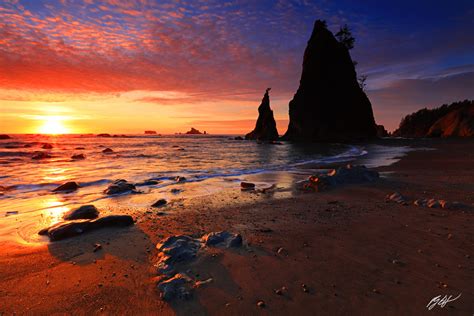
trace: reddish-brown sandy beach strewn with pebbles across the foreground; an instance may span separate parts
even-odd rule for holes
[[[384,177],[375,183],[282,193],[286,198],[236,187],[173,203],[160,209],[165,215],[108,210],[133,215],[129,229],[4,243],[0,314],[472,315],[473,211],[385,202],[398,191],[473,205],[474,142],[423,145],[436,150],[379,168]],[[241,233],[245,246],[213,249],[190,263],[193,277],[214,281],[188,301],[162,301],[156,243],[217,230]],[[102,250],[93,252],[95,243]],[[435,296],[459,293],[444,308],[426,308]]]

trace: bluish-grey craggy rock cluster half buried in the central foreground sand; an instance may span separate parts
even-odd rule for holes
[[[196,281],[184,271],[183,264],[196,259],[205,247],[238,248],[243,244],[240,234],[226,231],[212,232],[197,239],[187,235],[171,236],[160,242],[155,267],[161,278],[157,284],[161,297],[170,301],[187,299],[193,288],[209,283],[212,279]],[[178,269],[178,265],[180,269]]]

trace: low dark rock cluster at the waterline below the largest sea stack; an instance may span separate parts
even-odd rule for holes
[[[348,164],[337,169],[332,169],[325,174],[311,176],[303,183],[303,189],[323,191],[344,184],[357,184],[373,182],[379,178],[375,170],[367,169],[365,166],[353,166]]]

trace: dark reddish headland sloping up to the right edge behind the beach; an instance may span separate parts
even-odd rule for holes
[[[434,109],[421,109],[405,116],[397,137],[474,137],[474,101],[444,104]]]

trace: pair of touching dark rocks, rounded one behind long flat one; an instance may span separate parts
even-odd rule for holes
[[[58,241],[105,227],[125,227],[134,223],[130,215],[97,218],[98,216],[99,211],[95,206],[84,205],[64,214],[65,221],[44,228],[38,234],[48,236],[51,241]]]

